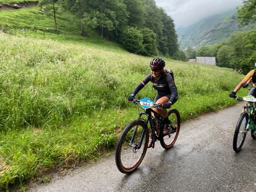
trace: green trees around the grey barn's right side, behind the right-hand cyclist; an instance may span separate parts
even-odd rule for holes
[[[256,30],[235,33],[228,40],[213,46],[203,46],[197,56],[217,57],[217,65],[242,69],[244,73],[254,68],[256,61]]]

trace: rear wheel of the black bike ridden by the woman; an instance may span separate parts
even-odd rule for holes
[[[171,149],[173,147],[177,140],[177,136],[179,135],[179,129],[181,128],[181,116],[179,115],[179,111],[177,111],[177,109],[169,110],[168,117],[171,121],[171,126],[176,128],[176,132],[160,138],[161,146],[164,149]]]

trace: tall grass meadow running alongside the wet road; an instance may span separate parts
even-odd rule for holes
[[[4,33],[0,52],[0,188],[100,156],[137,117],[126,98],[149,73],[150,57]],[[182,120],[235,103],[228,93],[241,76],[232,70],[166,62]],[[155,96],[151,85],[143,96]]]

